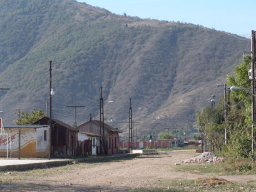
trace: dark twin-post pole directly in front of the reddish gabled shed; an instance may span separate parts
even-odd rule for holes
[[[100,148],[101,148],[101,154],[105,154],[104,101],[103,101],[102,87],[100,88],[100,95],[101,95],[100,97]],[[101,138],[101,130],[103,131],[103,138]]]

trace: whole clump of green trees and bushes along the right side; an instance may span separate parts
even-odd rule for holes
[[[251,58],[247,56],[240,66],[235,66],[233,76],[227,76],[228,87],[238,86],[245,89],[231,91],[231,104],[228,106],[226,121],[223,119],[223,98],[217,108],[207,107],[202,112],[197,111],[198,131],[202,131],[217,149],[222,149],[224,155],[235,158],[248,158],[253,155],[250,141],[252,124],[250,79],[248,78],[250,63]],[[223,144],[224,128],[227,128],[227,146]]]

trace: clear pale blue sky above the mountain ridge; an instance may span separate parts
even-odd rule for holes
[[[256,0],[78,0],[116,14],[200,24],[240,36],[256,30]]]

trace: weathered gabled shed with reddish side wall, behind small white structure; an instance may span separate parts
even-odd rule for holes
[[[83,124],[80,124],[76,127],[79,132],[85,132],[88,134],[98,134],[103,138],[103,130],[100,133],[100,121],[93,120],[90,118],[89,121],[86,121]],[[105,153],[106,154],[116,154],[119,150],[119,133],[122,133],[117,128],[104,123],[104,140],[105,140]],[[96,146],[100,146],[100,138],[95,138]],[[96,153],[100,154],[100,148],[96,148]]]

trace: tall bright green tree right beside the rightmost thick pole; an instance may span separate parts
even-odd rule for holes
[[[227,150],[242,158],[248,158],[252,151],[251,132],[251,102],[250,93],[251,81],[248,78],[248,69],[251,68],[251,57],[243,59],[240,66],[235,66],[234,75],[227,76],[228,86],[238,86],[245,88],[241,91],[232,91],[231,99],[233,107],[231,108],[228,117],[227,125],[231,133],[230,145]],[[247,91],[248,90],[248,91]]]

